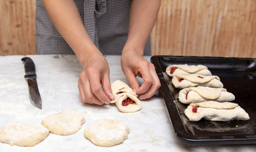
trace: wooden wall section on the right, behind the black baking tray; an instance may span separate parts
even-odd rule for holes
[[[162,0],[152,54],[256,58],[256,1]]]

